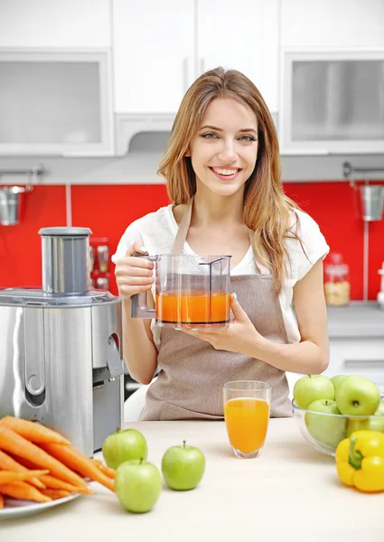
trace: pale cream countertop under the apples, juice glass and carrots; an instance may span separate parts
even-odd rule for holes
[[[343,486],[333,458],[307,444],[293,418],[272,419],[262,453],[248,460],[232,454],[223,422],[129,426],[145,435],[148,460],[158,467],[168,446],[183,439],[199,446],[207,460],[201,484],[185,492],[164,488],[154,509],[135,515],[93,482],[93,496],[0,522],[2,542],[384,540],[384,493]]]

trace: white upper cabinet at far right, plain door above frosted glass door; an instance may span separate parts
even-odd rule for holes
[[[384,152],[384,3],[281,3],[283,154]]]

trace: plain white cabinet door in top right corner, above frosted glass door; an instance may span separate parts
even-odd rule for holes
[[[283,0],[281,46],[285,48],[384,47],[382,0]]]

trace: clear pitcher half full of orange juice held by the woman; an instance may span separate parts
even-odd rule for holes
[[[133,318],[155,318],[173,328],[229,324],[230,256],[135,256],[155,262],[155,309],[146,304],[145,292],[133,295]]]

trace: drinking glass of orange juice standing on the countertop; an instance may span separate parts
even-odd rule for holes
[[[267,436],[271,387],[257,380],[235,380],[223,388],[224,419],[237,457],[258,457]]]

